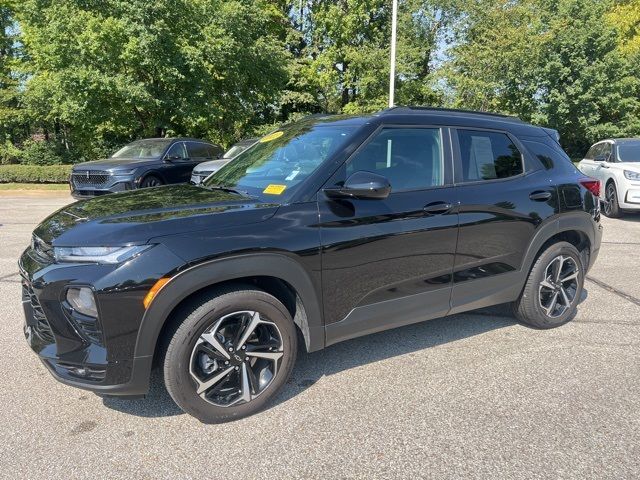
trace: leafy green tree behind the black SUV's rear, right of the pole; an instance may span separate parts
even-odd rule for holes
[[[454,105],[555,128],[576,156],[603,137],[640,133],[637,62],[602,21],[608,0],[474,5],[447,68]]]

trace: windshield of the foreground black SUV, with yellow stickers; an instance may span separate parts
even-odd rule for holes
[[[352,126],[300,122],[258,140],[204,184],[283,200],[353,132]]]

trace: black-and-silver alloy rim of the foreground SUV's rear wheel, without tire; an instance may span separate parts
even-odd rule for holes
[[[549,262],[538,288],[538,302],[548,317],[560,317],[571,307],[579,275],[580,269],[572,257],[558,255]]]

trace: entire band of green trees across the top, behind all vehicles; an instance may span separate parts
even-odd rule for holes
[[[0,162],[388,102],[391,0],[1,0]],[[640,0],[399,0],[396,103],[640,135]]]

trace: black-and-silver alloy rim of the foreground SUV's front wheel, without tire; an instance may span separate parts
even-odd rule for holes
[[[231,407],[264,392],[284,355],[275,323],[258,312],[239,311],[218,319],[196,341],[189,373],[205,401]]]

